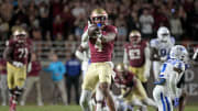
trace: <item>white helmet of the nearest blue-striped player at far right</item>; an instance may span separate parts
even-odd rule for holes
[[[186,62],[188,59],[188,52],[185,46],[183,45],[175,45],[172,47],[169,53],[170,58],[180,59]]]

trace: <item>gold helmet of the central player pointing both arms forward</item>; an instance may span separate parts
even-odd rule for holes
[[[108,13],[105,9],[95,9],[91,12],[90,20],[94,24],[106,25],[108,20]]]

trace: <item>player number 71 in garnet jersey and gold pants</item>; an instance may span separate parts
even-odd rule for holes
[[[30,62],[31,47],[25,30],[19,27],[13,32],[3,52],[7,60],[8,88],[10,91],[10,111],[15,111],[26,79],[26,66]]]

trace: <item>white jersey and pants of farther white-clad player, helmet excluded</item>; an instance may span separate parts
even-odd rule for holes
[[[157,49],[157,55],[161,57],[161,62],[153,62],[153,71],[155,78],[158,77],[160,67],[162,66],[163,62],[168,58],[170,48],[175,45],[175,38],[170,37],[170,40],[166,43],[163,43],[158,38],[151,40],[151,47]]]

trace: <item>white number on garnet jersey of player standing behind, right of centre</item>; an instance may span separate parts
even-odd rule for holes
[[[141,52],[140,52],[140,49],[130,49],[129,56],[130,56],[130,59],[140,59],[141,58]]]

